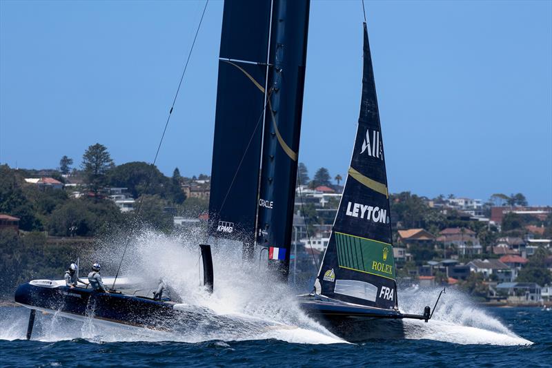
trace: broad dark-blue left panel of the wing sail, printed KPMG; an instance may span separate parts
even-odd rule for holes
[[[270,0],[224,2],[209,234],[253,244]]]

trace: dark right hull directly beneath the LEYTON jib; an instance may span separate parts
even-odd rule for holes
[[[402,315],[395,310],[354,306],[300,296],[299,306],[328,331],[347,341],[404,338]]]

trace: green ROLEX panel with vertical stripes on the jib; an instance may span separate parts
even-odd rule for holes
[[[377,240],[335,232],[339,267],[395,278],[393,246]]]

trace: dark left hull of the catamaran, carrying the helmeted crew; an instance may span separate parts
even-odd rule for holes
[[[172,304],[121,293],[97,293],[91,289],[40,287],[22,284],[15,302],[30,309],[61,312],[68,317],[93,317],[133,327],[169,331],[176,316]]]

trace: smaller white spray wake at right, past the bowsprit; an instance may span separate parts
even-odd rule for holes
[[[423,310],[424,305],[435,302],[439,291],[437,288],[408,288],[400,291],[401,311],[417,313]],[[404,329],[406,338],[413,340],[436,340],[462,345],[533,344],[517,336],[500,320],[475,306],[464,293],[454,289],[446,290],[428,323],[422,320],[404,320]]]

